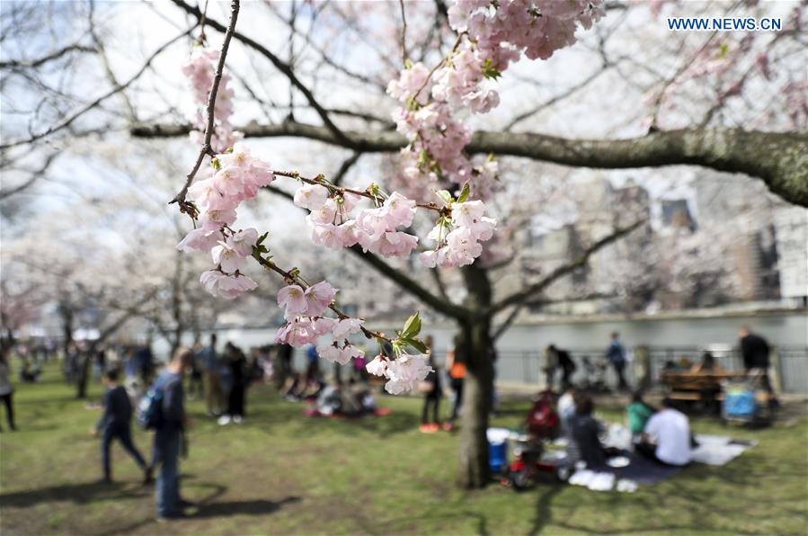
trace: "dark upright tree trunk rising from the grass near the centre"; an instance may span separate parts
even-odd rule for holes
[[[468,289],[467,307],[472,310],[488,308],[491,304],[491,283],[487,272],[472,265],[464,269],[464,277]],[[471,317],[462,321],[460,335],[456,357],[466,362],[466,380],[463,386],[457,484],[471,489],[485,487],[491,479],[486,437],[493,393],[490,317]]]

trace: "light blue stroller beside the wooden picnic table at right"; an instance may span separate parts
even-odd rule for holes
[[[721,405],[721,419],[729,422],[765,425],[774,420],[771,395],[765,389],[764,375],[750,371],[739,380],[726,380],[722,388],[724,399]]]

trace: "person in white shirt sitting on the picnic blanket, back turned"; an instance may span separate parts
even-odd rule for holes
[[[662,399],[662,409],[645,424],[635,451],[662,465],[684,466],[690,462],[688,416],[673,407],[673,400]]]

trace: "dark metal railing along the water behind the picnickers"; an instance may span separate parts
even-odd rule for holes
[[[661,371],[667,362],[679,363],[687,361],[693,364],[701,362],[701,356],[706,351],[715,356],[715,362],[726,371],[743,370],[743,361],[737,348],[729,346],[679,346],[655,347],[646,346],[650,367],[649,378],[653,386],[659,385]],[[605,349],[571,349],[568,350],[577,369],[573,374],[573,382],[581,383],[587,380],[588,371],[584,366],[585,358],[593,365],[605,359]],[[640,348],[629,350],[629,362],[626,364],[626,380],[630,385],[636,385],[637,363],[634,359]],[[779,389],[784,393],[808,393],[808,346],[784,346],[772,349],[770,372],[779,380]],[[541,351],[502,351],[496,364],[497,380],[544,385],[545,373],[542,371],[543,358]],[[556,382],[559,381],[560,371],[556,372]],[[610,387],[617,385],[617,376],[611,367],[606,367],[604,379]]]

